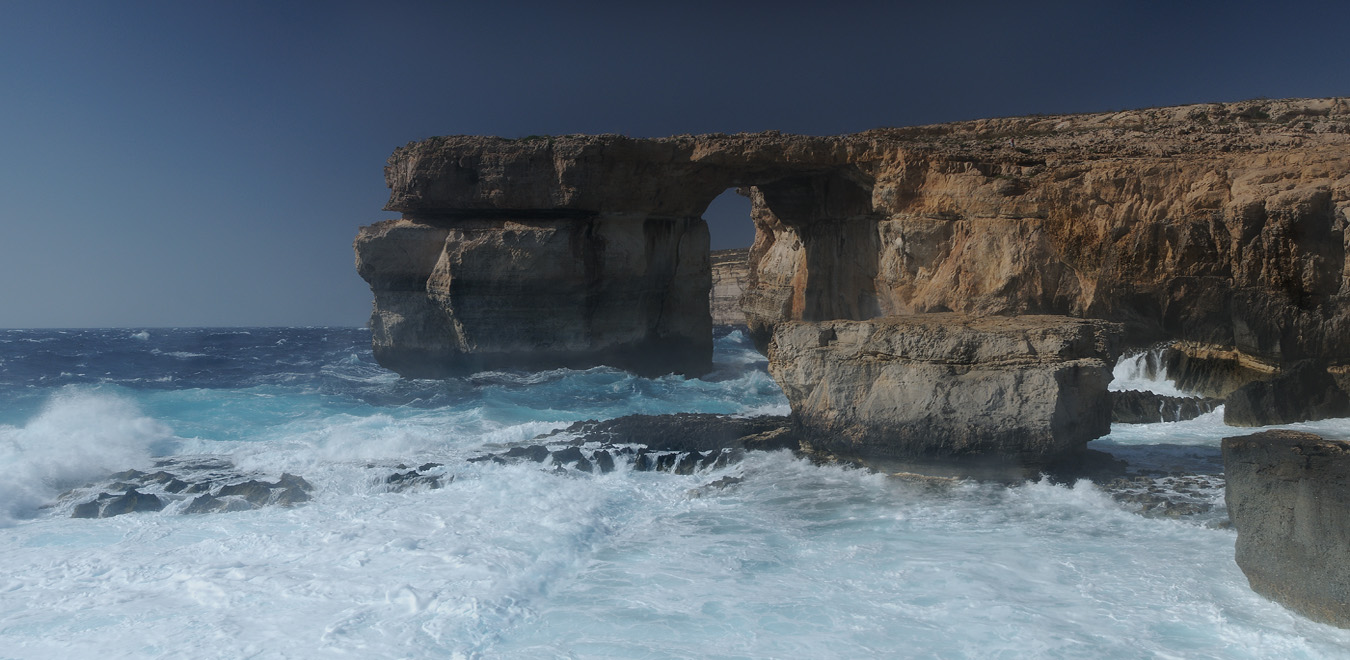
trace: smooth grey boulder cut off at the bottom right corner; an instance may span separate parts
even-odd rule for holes
[[[1251,588],[1350,628],[1350,443],[1293,431],[1226,437],[1223,471]]]

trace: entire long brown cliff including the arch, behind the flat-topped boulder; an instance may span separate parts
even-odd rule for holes
[[[752,200],[741,308],[783,321],[1062,314],[1264,364],[1350,364],[1350,104],[1243,101],[844,136],[433,138],[364,228],[405,375],[707,368],[701,215]],[[695,254],[697,252],[697,254]],[[1234,383],[1238,386],[1241,383]]]

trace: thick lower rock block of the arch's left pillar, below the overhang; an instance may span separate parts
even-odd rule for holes
[[[375,359],[405,377],[711,364],[707,225],[686,220],[389,220],[362,231]]]

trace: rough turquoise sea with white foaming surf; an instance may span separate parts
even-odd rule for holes
[[[1142,366],[1122,359],[1112,387],[1172,387]],[[1350,656],[1350,630],[1258,597],[1234,563],[1219,443],[1249,429],[1222,409],[1114,425],[1089,445],[1138,470],[1114,486],[787,451],[694,474],[471,460],[675,412],[788,408],[734,328],[701,379],[446,381],[381,368],[360,328],[0,331],[0,659]],[[1350,420],[1289,428],[1350,437]],[[72,517],[116,472],[165,464],[312,490]],[[393,487],[409,466],[440,487]]]

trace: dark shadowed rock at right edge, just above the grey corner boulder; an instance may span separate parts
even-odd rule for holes
[[[1328,417],[1350,417],[1350,397],[1326,364],[1295,363],[1269,381],[1254,381],[1228,394],[1223,422],[1268,427]]]

